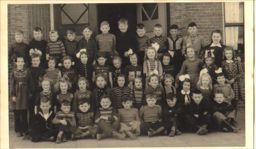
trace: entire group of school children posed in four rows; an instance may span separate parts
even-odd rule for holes
[[[29,44],[22,31],[15,32],[8,60],[17,137],[62,143],[69,137],[173,137],[216,128],[238,132],[243,66],[233,48],[221,44],[220,30],[205,46],[194,22],[184,38],[178,37],[177,25],[170,26],[168,38],[160,24],[153,38],[145,35],[143,24],[136,26],[136,36],[127,32],[125,19],[118,28],[110,34],[104,21],[102,34],[92,38],[86,25],[79,42],[74,29],[63,42],[51,30],[47,43],[36,27]]]

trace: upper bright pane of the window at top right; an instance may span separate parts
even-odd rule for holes
[[[244,3],[225,2],[225,23],[244,22]]]

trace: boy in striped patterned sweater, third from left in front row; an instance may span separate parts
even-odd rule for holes
[[[78,127],[70,127],[70,132],[72,133],[72,140],[76,140],[88,135],[95,138],[99,130],[99,126],[94,124],[93,116],[94,113],[90,110],[90,102],[87,98],[82,98],[78,101],[78,113],[76,113],[76,118],[78,121]]]

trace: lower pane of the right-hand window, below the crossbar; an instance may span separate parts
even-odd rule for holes
[[[244,52],[244,28],[242,26],[225,27],[225,42],[234,50]]]

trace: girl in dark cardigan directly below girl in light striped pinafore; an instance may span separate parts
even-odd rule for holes
[[[154,74],[151,74],[148,78],[148,83],[150,86],[145,91],[145,97],[147,97],[148,93],[156,94],[156,105],[160,105],[162,107],[163,104],[166,104],[166,98],[164,94],[164,89],[159,86],[160,80],[156,73],[154,72]]]

